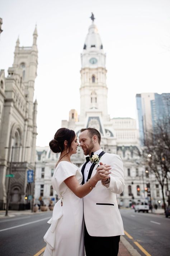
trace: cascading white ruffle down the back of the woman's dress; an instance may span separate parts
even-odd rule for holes
[[[54,250],[55,248],[55,241],[56,241],[56,226],[58,220],[62,217],[62,206],[61,206],[62,199],[58,200],[53,208],[52,218],[47,221],[47,223],[51,224],[49,229],[47,230],[46,234],[44,235],[44,241],[47,243],[47,247],[50,250]]]

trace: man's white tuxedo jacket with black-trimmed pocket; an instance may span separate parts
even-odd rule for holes
[[[95,237],[124,235],[116,199],[116,194],[121,194],[124,188],[123,162],[118,155],[109,153],[105,153],[99,162],[112,167],[110,183],[103,185],[98,181],[95,188],[83,198],[86,229],[89,235]],[[95,175],[98,165],[94,166],[91,177]]]

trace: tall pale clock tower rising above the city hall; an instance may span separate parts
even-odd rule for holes
[[[105,58],[98,29],[92,19],[81,53],[80,122],[91,115],[100,116],[103,121],[109,120]]]

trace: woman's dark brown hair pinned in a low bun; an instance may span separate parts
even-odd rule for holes
[[[68,154],[70,151],[72,151],[71,143],[73,142],[75,136],[76,134],[73,130],[60,128],[54,135],[54,139],[49,142],[49,147],[54,153],[60,153],[65,149],[64,141],[67,140],[66,149],[68,150]]]

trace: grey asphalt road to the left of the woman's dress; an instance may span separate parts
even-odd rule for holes
[[[51,216],[52,212],[45,212],[0,219],[0,255],[33,256],[36,254],[46,246],[43,236],[49,228],[47,221]]]

